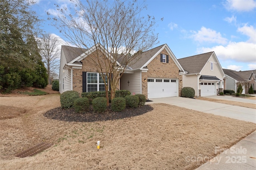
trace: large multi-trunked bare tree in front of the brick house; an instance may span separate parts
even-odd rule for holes
[[[91,60],[104,80],[107,98],[108,86],[113,99],[125,69],[140,59],[141,53],[134,52],[146,51],[157,43],[158,35],[154,33],[155,18],[140,16],[146,8],[144,3],[140,3],[136,0],[86,0],[82,4],[79,0],[74,0],[74,10],[59,9],[57,5],[59,14],[52,18],[54,25],[69,43],[81,49],[96,48],[96,54]],[[49,13],[48,15],[50,16]],[[103,55],[111,57],[102,57],[99,48],[103,50]],[[87,56],[90,51],[85,53]]]

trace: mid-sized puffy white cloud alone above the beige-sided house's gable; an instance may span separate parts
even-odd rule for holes
[[[201,27],[199,31],[192,31],[194,41],[198,41],[199,43],[207,42],[207,43],[218,43],[218,44],[226,44],[227,39],[222,37],[220,32],[216,32],[213,29]]]

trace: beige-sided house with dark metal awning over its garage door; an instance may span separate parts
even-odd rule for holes
[[[223,92],[225,74],[214,52],[178,59],[187,72],[182,86],[192,87],[195,96],[213,96]]]

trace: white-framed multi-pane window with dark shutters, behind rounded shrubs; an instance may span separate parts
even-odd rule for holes
[[[106,74],[103,74],[106,84],[108,84],[108,78]],[[87,72],[87,92],[105,91],[104,79],[102,79],[101,73]]]

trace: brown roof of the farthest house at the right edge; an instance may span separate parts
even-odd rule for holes
[[[235,71],[229,69],[223,69],[224,73],[231,78],[234,78],[237,81],[244,81],[251,79],[252,75],[254,76],[254,72],[256,70],[247,70],[247,71]]]

